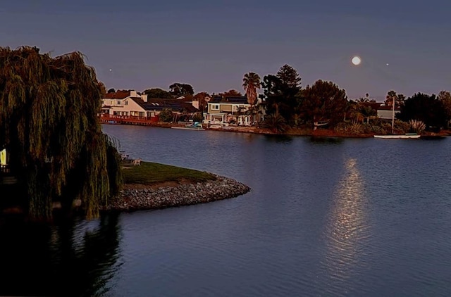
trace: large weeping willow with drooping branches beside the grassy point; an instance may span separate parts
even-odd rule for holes
[[[53,201],[73,199],[96,217],[121,187],[118,153],[97,118],[102,91],[80,52],[52,58],[0,47],[0,146],[32,217],[49,218]]]

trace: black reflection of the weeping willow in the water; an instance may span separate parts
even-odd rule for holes
[[[93,296],[118,269],[118,215],[0,227],[0,296]]]

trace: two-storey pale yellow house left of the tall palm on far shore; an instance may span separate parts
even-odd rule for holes
[[[214,96],[208,102],[204,123],[211,125],[252,125],[250,104],[245,96]]]

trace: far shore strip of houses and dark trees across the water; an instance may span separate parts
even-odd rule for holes
[[[307,86],[301,82],[299,72],[288,64],[263,78],[255,72],[245,73],[243,94],[235,89],[195,94],[190,84],[175,82],[169,90],[135,91],[136,96],[142,96],[141,103],[136,101],[140,110],[122,108],[132,90],[109,89],[99,118],[102,122],[158,127],[202,122],[207,126],[204,129],[313,137],[417,134],[433,139],[450,134],[442,131],[451,129],[450,91],[442,90],[438,95],[417,92],[407,97],[392,89],[385,100],[369,93],[350,99],[334,82],[320,79]],[[113,98],[118,101],[113,102]],[[148,99],[155,102],[144,104],[150,102]],[[182,101],[191,103],[196,109],[173,107],[166,101],[174,106]],[[154,107],[157,105],[159,108]]]

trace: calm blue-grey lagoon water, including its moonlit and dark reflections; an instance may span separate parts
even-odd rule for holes
[[[450,296],[451,139],[104,131],[131,157],[252,191],[54,227],[6,225],[0,295]]]

